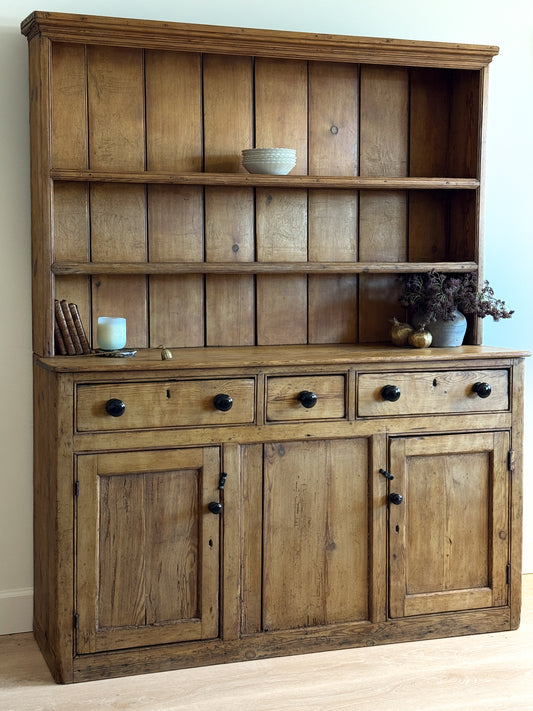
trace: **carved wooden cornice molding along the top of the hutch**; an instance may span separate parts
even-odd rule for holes
[[[44,11],[35,11],[23,20],[21,32],[28,39],[41,35],[62,42],[456,69],[482,69],[499,52],[493,45],[219,27]]]

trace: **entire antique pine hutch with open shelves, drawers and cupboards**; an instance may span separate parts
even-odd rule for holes
[[[402,274],[482,279],[497,48],[48,12],[22,31],[54,678],[516,627],[526,354],[473,320],[460,348],[383,345]],[[250,175],[253,146],[297,165]],[[135,357],[58,355],[64,299],[93,347],[126,317]]]

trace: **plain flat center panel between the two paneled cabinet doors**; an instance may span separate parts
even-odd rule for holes
[[[263,630],[367,620],[369,442],[264,447]]]

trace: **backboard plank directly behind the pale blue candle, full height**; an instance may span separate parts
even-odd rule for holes
[[[89,167],[144,170],[144,67],[141,50],[90,46],[87,49]],[[146,191],[142,185],[91,188],[93,261],[146,259]],[[93,278],[93,332],[98,316],[128,319],[128,346],[145,347],[145,277]]]

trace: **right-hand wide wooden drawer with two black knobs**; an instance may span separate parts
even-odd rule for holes
[[[387,390],[387,386],[392,388]],[[394,400],[396,396],[398,398]],[[444,415],[508,409],[508,370],[361,373],[357,380],[359,417]]]

